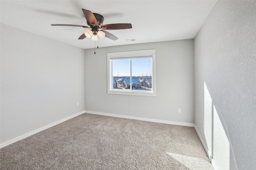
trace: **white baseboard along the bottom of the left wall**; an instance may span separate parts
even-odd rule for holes
[[[29,137],[29,136],[31,136],[31,135],[34,135],[34,134],[36,134],[36,133],[38,133],[38,132],[40,132],[40,131],[43,131],[43,130],[48,129],[48,128],[50,128],[50,127],[53,127],[53,126],[55,126],[55,125],[58,125],[59,123],[62,123],[62,122],[64,122],[64,121],[67,121],[68,119],[72,119],[72,118],[74,118],[74,117],[76,117],[76,116],[78,116],[78,115],[81,115],[81,114],[83,114],[83,113],[85,113],[85,111],[80,111],[79,113],[76,113],[76,114],[74,114],[74,115],[68,116],[68,117],[66,117],[66,118],[64,118],[64,119],[61,119],[61,120],[56,121],[56,122],[54,122],[54,123],[51,123],[51,124],[49,124],[49,125],[40,127],[40,128],[35,129],[35,130],[33,130],[33,131],[30,131],[30,132],[28,132],[28,133],[25,133],[25,134],[23,134],[23,135],[20,135],[20,136],[18,136],[18,137],[15,137],[15,138],[13,138],[13,139],[10,139],[10,140],[8,140],[8,141],[6,141],[6,142],[1,143],[1,144],[0,144],[0,148],[6,147],[7,145],[10,145],[10,144],[12,144],[12,143],[14,143],[14,142],[17,142],[17,141],[20,141],[20,140],[22,140],[22,139],[25,139],[26,137]]]

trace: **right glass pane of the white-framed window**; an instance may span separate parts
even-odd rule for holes
[[[152,91],[152,58],[132,59],[132,90]]]

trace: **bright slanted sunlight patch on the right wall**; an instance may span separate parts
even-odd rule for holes
[[[229,170],[230,143],[205,82],[203,127],[212,166],[217,170]]]

